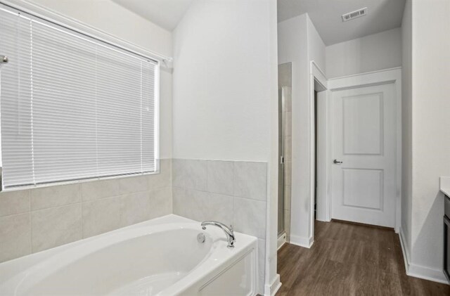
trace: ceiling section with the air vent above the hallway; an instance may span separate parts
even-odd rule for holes
[[[328,46],[401,26],[405,0],[278,0],[278,22],[308,13]],[[367,7],[367,15],[342,22],[341,15]]]

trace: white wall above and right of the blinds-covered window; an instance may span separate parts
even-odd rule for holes
[[[10,0],[11,1],[11,0]],[[148,51],[172,56],[172,33],[110,0],[12,0],[29,2],[65,15]],[[161,69],[160,158],[172,157],[172,73]]]

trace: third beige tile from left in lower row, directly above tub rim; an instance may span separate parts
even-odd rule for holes
[[[120,228],[120,197],[83,202],[83,237]]]

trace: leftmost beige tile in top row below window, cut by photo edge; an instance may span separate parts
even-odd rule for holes
[[[0,193],[0,217],[30,212],[30,191],[4,191]]]

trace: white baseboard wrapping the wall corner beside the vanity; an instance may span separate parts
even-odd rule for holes
[[[431,269],[430,267],[420,266],[418,264],[411,263],[411,257],[409,257],[408,245],[405,241],[405,235],[403,229],[399,229],[401,251],[403,252],[403,259],[405,262],[406,274],[415,278],[423,278],[424,280],[434,281],[437,283],[449,284],[444,272],[441,269]]]

